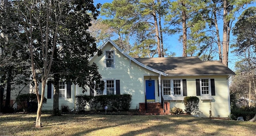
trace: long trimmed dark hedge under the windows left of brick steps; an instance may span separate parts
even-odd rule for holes
[[[76,106],[79,112],[86,111],[89,107],[91,111],[104,110],[105,106],[114,111],[129,110],[132,96],[130,94],[121,95],[100,95],[100,96],[76,96]]]

